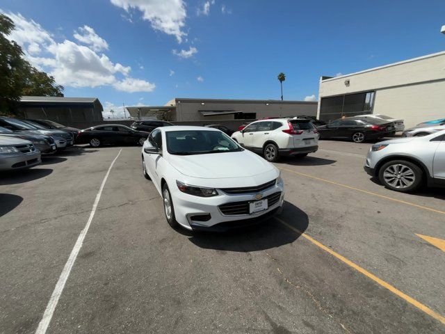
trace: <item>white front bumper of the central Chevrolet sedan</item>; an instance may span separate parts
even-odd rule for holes
[[[280,199],[267,209],[254,214],[227,215],[220,211],[219,206],[232,202],[254,201],[257,193],[226,194],[218,190],[219,195],[202,198],[182,193],[177,189],[176,184],[170,186],[172,201],[175,207],[177,222],[188,230],[215,230],[224,231],[232,228],[241,228],[246,225],[261,223],[266,218],[280,212],[284,202],[284,188],[282,182],[271,186],[269,189],[261,191],[264,198],[281,192]],[[209,215],[207,221],[193,221],[194,216]]]

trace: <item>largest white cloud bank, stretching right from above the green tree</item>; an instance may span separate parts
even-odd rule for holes
[[[72,87],[113,86],[130,93],[149,92],[155,87],[148,81],[129,77],[131,67],[113,63],[105,54],[98,54],[95,49],[108,47],[108,43],[87,26],[79,28],[75,34],[78,35],[77,40],[88,45],[79,45],[71,40],[56,42],[33,20],[25,19],[20,14],[4,14],[13,19],[16,27],[8,38],[22,47],[32,65],[54,76],[57,84]]]

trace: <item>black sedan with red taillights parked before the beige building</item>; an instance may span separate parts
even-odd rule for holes
[[[333,120],[317,129],[321,139],[348,138],[355,143],[394,136],[396,133],[393,122],[378,119],[362,120],[353,117]]]

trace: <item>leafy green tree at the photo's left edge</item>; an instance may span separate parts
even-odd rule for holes
[[[63,87],[24,59],[22,48],[7,35],[13,21],[0,14],[0,113],[17,114],[17,102],[23,95],[63,96]]]

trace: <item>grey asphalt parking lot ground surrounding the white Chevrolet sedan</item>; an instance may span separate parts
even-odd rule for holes
[[[97,208],[47,333],[443,333],[443,191],[389,191],[370,144],[321,141],[282,170],[277,218],[175,231],[140,148],[76,146],[0,177],[0,333],[34,333]],[[117,157],[117,159],[116,159]]]

